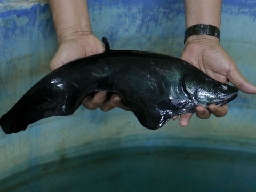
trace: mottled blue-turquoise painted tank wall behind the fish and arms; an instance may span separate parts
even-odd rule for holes
[[[221,45],[256,84],[256,2],[222,1]],[[181,0],[88,0],[94,34],[113,49],[137,49],[180,57],[185,30]],[[0,115],[50,72],[57,39],[47,1],[0,1]],[[51,117],[26,131],[0,131],[0,180],[58,159],[106,149],[182,146],[256,152],[255,96],[239,92],[223,118],[193,117],[162,129],[142,127],[121,109],[107,113],[80,107],[73,116]]]

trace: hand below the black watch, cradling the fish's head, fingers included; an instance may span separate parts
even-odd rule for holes
[[[186,41],[181,59],[188,61],[217,81],[223,83],[230,81],[239,90],[249,94],[256,94],[256,87],[243,77],[234,60],[221,47],[219,39],[216,37],[209,35],[190,36]],[[207,119],[211,113],[217,117],[222,117],[227,114],[227,111],[227,104],[222,106],[211,104],[208,109],[203,106],[197,106],[195,113],[197,117]],[[192,115],[191,113],[180,115],[180,125],[187,126]],[[173,119],[177,118],[178,116],[173,117]]]

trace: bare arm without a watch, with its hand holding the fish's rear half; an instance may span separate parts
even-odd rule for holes
[[[92,33],[86,0],[49,0],[49,4],[59,44],[50,63],[51,70],[105,50]],[[86,98],[83,105],[88,109],[99,107],[103,111],[114,107],[127,109],[117,94],[108,98],[105,91],[98,91]]]

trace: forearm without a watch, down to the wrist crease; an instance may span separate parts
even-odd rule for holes
[[[92,33],[86,0],[49,0],[58,42]]]

